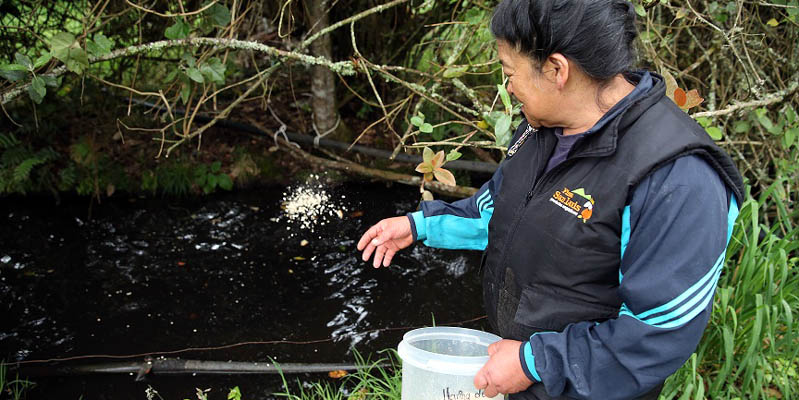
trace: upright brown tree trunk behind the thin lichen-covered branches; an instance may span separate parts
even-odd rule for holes
[[[327,28],[329,0],[306,0],[309,35]],[[311,54],[333,59],[333,47],[330,35],[323,35],[311,43]],[[314,113],[314,124],[317,134],[330,132],[336,126],[338,110],[336,109],[336,82],[333,72],[328,68],[316,65],[311,71],[311,108]]]

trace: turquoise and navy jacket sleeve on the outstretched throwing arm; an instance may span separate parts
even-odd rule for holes
[[[493,199],[501,183],[502,168],[498,168],[472,197],[452,203],[422,202],[421,210],[408,214],[414,240],[442,249],[485,250]]]

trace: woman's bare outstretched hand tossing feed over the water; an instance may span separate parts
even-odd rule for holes
[[[380,268],[380,264],[388,267],[394,254],[410,246],[411,243],[413,243],[413,233],[408,217],[386,218],[361,236],[358,250],[363,250],[364,261],[369,261],[369,257],[374,253],[372,265],[375,268]]]

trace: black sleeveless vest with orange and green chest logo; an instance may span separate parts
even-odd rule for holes
[[[549,172],[543,171],[557,139],[547,128],[500,166],[482,268],[485,308],[503,338],[524,341],[535,332],[618,316],[622,211],[638,182],[660,166],[699,155],[743,198],[732,160],[664,95],[663,79],[652,76],[646,95],[582,138]],[[540,389],[538,398],[548,398]]]

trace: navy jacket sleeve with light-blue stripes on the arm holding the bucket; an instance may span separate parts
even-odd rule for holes
[[[538,333],[522,369],[551,396],[630,399],[674,373],[707,326],[738,206],[701,158],[665,165],[622,215],[618,317]]]

